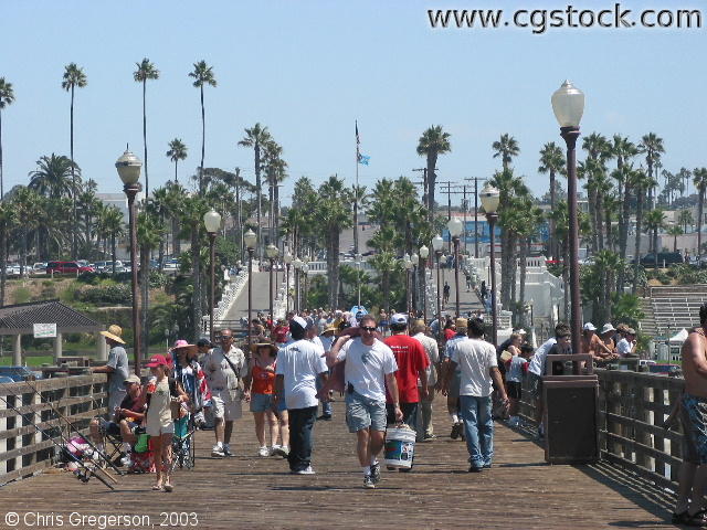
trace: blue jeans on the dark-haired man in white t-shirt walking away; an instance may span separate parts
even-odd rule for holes
[[[466,435],[466,451],[472,466],[490,466],[494,458],[494,420],[490,415],[490,395],[460,395],[460,407]]]

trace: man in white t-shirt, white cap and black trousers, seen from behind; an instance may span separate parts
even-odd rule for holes
[[[314,322],[313,322],[314,326]],[[293,342],[277,352],[275,400],[287,403],[289,415],[289,469],[296,475],[314,475],[312,469],[312,428],[317,417],[317,378],[326,381],[324,350],[306,339],[307,321],[293,317]]]

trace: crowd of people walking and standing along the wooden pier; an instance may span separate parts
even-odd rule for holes
[[[468,470],[493,464],[494,418],[521,426],[521,383],[529,380],[536,398],[538,436],[542,436],[542,377],[548,353],[570,352],[570,330],[559,324],[555,337],[537,351],[515,331],[495,347],[485,339],[481,311],[469,318],[440,317],[425,322],[414,315],[363,310],[291,312],[275,320],[258,315],[250,322],[251,351],[236,346],[232,330],[219,333],[218,344],[178,340],[166,356],[147,362],[150,377],[128,375],[122,330],[104,332],[108,362],[94,368],[109,375],[108,410],[114,416],[92,422],[92,436],[122,438],[123,463],[130,464],[136,432],[150,436],[156,470],[154,489],[171,491],[170,452],[175,421],[190,415],[193,425],[214,433],[211,456],[233,455],[234,422],[247,405],[254,418],[257,456],[284,457],[296,475],[312,475],[313,428],[331,421],[331,401],[345,396],[346,426],[356,436],[363,487],[381,480],[380,454],[390,425],[407,425],[418,442],[433,442],[432,403],[446,400],[450,436],[466,443]],[[635,351],[635,332],[584,326],[582,344],[598,364]],[[321,407],[319,410],[319,407]],[[243,436],[244,433],[240,433]],[[410,471],[414,467],[401,469]]]

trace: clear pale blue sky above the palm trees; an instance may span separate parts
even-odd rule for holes
[[[143,57],[160,71],[147,86],[150,188],[173,177],[165,156],[172,138],[189,148],[180,181],[199,166],[199,91],[187,74],[200,60],[218,81],[204,91],[204,166],[240,167],[253,181],[253,151],[236,142],[260,121],[289,166],[285,204],[302,176],[318,184],[336,173],[354,183],[356,119],[370,157],[359,165],[359,181],[369,189],[381,178],[419,180],[418,139],[442,125],[452,152],[437,161],[439,180],[489,178],[500,166],[492,142],[508,132],[520,147],[516,172],[542,194],[548,181],[537,171],[538,151],[562,144],[550,96],[566,78],[585,94],[583,134],[619,132],[637,142],[653,131],[665,142],[665,169],[707,166],[707,7],[662,2],[622,6],[704,8],[703,28],[532,34],[432,29],[428,17],[428,9],[566,8],[553,0],[6,0],[0,77],[12,83],[15,103],[2,112],[4,188],[28,183],[41,156],[68,156],[70,96],[61,78],[75,62],[88,80],[76,91],[75,160],[99,192],[119,192],[114,163],[126,144],[144,158],[141,86],[133,81]]]

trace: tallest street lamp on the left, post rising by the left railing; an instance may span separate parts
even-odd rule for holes
[[[140,353],[140,321],[138,318],[137,297],[137,212],[135,210],[135,195],[140,190],[140,168],[143,162],[129,150],[125,150],[123,156],[115,162],[118,177],[123,181],[123,191],[128,197],[128,223],[130,226],[130,276],[133,290],[133,356],[135,357],[135,373],[140,375],[141,353]]]

